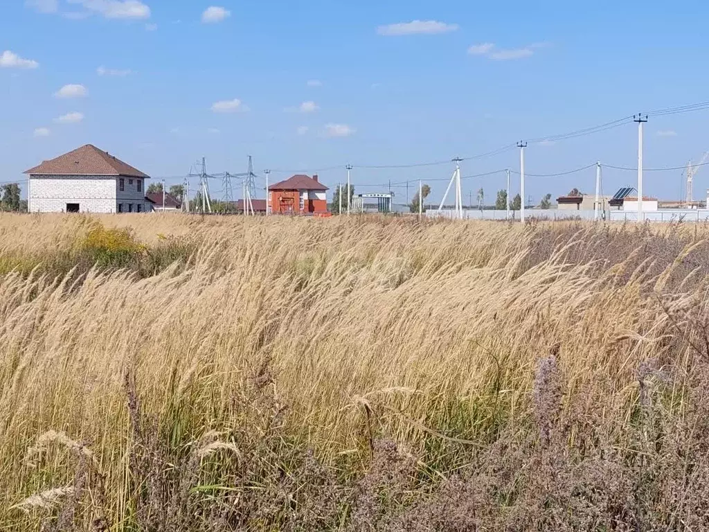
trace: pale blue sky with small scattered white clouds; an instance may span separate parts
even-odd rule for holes
[[[168,183],[206,157],[208,172],[320,171],[469,157],[523,138],[709,100],[699,1],[4,0],[0,17],[0,182],[93,143]],[[417,22],[418,21],[418,22]],[[68,86],[68,87],[67,87]],[[63,89],[62,89],[63,88]],[[645,167],[709,150],[709,111],[653,118]],[[637,128],[530,145],[527,172],[601,160],[635,166]],[[462,172],[518,169],[517,150]],[[355,168],[362,192],[429,180],[440,199],[452,164]],[[527,179],[535,201],[593,169]],[[604,170],[603,192],[635,182]],[[513,192],[518,189],[513,178]],[[504,174],[465,179],[493,199]],[[648,172],[647,193],[679,196],[681,171]],[[235,187],[240,190],[240,187]],[[384,187],[386,188],[386,187]],[[695,196],[709,188],[698,172]],[[219,185],[213,192],[219,196]],[[400,199],[406,190],[395,188]]]

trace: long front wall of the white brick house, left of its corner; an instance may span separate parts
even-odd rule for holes
[[[116,212],[116,178],[109,176],[30,176],[30,212],[65,212],[67,203],[81,212]]]

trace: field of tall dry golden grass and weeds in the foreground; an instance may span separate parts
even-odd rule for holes
[[[0,530],[706,530],[708,288],[704,226],[0,214]]]

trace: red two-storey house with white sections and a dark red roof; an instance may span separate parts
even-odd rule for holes
[[[318,176],[294,175],[268,187],[268,207],[273,214],[325,214],[328,187]]]

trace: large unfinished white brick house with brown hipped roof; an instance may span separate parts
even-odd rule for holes
[[[25,173],[30,212],[150,212],[150,177],[91,144]]]

